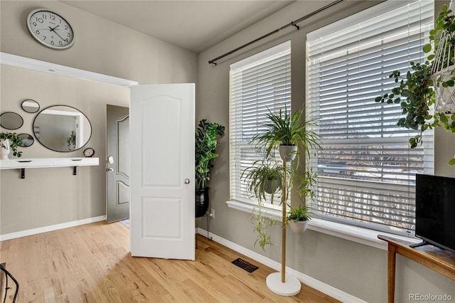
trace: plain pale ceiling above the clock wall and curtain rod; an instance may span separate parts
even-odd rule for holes
[[[292,1],[82,1],[66,4],[200,53]]]

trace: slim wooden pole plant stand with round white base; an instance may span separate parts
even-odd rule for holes
[[[267,276],[265,280],[267,287],[281,296],[294,296],[298,294],[301,289],[301,283],[296,277],[286,275],[286,201],[287,201],[287,187],[286,187],[286,161],[283,161],[284,182],[282,193],[282,272],[274,272]]]

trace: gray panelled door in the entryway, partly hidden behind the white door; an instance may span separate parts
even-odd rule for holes
[[[107,105],[107,223],[129,218],[129,108]]]

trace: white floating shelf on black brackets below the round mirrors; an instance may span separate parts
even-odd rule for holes
[[[25,178],[25,169],[43,169],[49,167],[72,166],[76,174],[77,166],[94,166],[100,164],[100,158],[15,158],[0,160],[0,169],[21,169],[21,179]]]

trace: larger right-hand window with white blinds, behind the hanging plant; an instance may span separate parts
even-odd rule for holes
[[[400,105],[375,102],[396,86],[434,21],[433,1],[386,1],[308,33],[307,115],[323,150],[311,158],[318,173],[314,211],[322,218],[392,233],[414,229],[415,174],[432,174],[433,135],[410,149],[417,134],[397,127]]]

